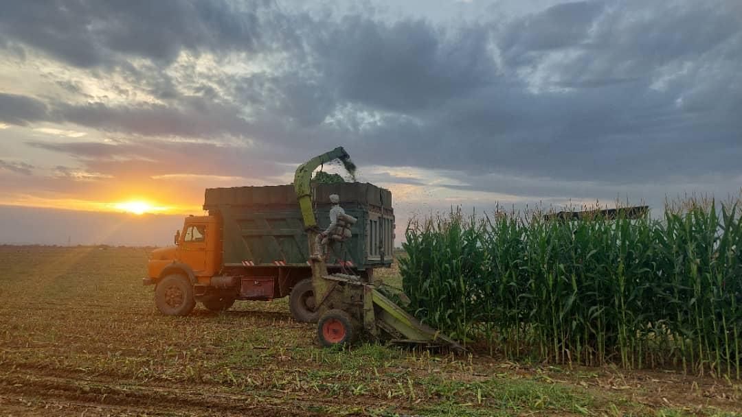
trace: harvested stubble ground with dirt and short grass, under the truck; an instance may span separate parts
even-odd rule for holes
[[[733,416],[742,381],[318,347],[286,300],[154,307],[136,248],[0,246],[1,416]]]

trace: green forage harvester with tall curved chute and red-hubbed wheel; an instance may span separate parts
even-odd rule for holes
[[[312,286],[319,313],[317,333],[321,344],[349,344],[361,334],[366,334],[372,338],[388,338],[400,343],[464,351],[453,339],[407,314],[372,284],[361,281],[357,276],[330,275],[327,272],[324,256],[318,255],[323,253],[319,247],[323,241],[323,231],[317,224],[312,208],[310,181],[316,168],[335,159],[340,160],[353,174],[355,165],[350,161],[350,156],[342,147],[337,147],[301,164],[294,176],[294,189],[308,235],[309,253],[312,254],[309,264],[312,267]]]

